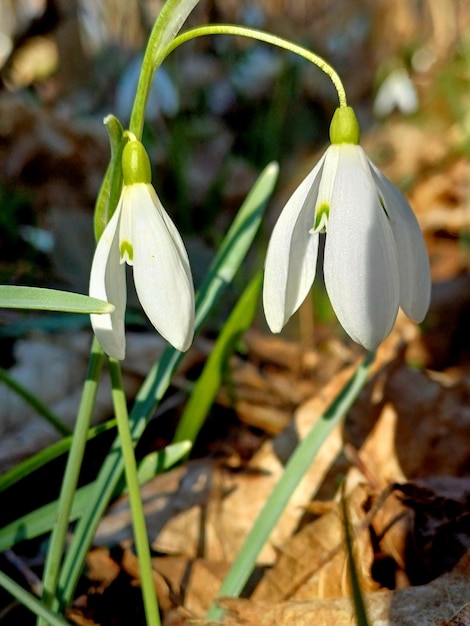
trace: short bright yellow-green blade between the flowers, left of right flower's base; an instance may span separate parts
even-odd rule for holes
[[[227,361],[233,354],[240,336],[251,326],[256,314],[262,280],[263,273],[259,272],[248,284],[225,322],[186,403],[173,441],[188,440],[194,444],[222,383]]]

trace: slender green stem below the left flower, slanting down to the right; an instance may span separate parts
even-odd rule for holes
[[[145,526],[145,514],[140,496],[139,477],[134,455],[131,430],[129,427],[129,415],[127,413],[126,394],[122,384],[121,366],[119,361],[109,359],[109,372],[111,375],[114,414],[116,417],[119,438],[121,441],[122,456],[124,459],[124,472],[126,476],[129,502],[131,506],[132,525],[134,528],[134,540],[139,559],[140,584],[144,599],[144,609],[147,624],[160,626],[160,613],[158,611],[157,594],[153,582],[152,559],[150,546]]]

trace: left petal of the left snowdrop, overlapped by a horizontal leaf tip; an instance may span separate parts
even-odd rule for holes
[[[122,198],[98,241],[90,274],[90,296],[107,300],[115,306],[111,314],[90,315],[93,331],[101,347],[115,359],[123,359],[126,350],[126,274],[119,255],[121,210]]]

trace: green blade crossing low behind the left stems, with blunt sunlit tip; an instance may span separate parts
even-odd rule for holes
[[[191,444],[189,441],[181,441],[177,444],[170,444],[163,450],[151,452],[139,464],[139,483],[142,485],[156,474],[164,472],[175,463],[178,463],[186,456],[190,448]],[[124,486],[125,481],[122,481],[114,495],[117,496],[123,493]],[[75,521],[85,513],[93,495],[93,487],[94,485],[90,484],[77,489],[70,513],[70,521]],[[34,539],[49,532],[57,520],[57,509],[58,501],[55,500],[1,528],[0,552],[8,550],[19,541]]]

